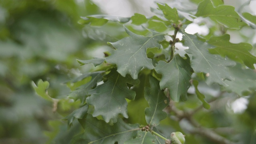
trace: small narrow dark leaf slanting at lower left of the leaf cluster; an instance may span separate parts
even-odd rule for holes
[[[85,104],[81,108],[78,108],[77,110],[74,110],[71,114],[66,116],[64,120],[68,120],[68,126],[72,126],[72,122],[75,120],[75,118],[82,119],[88,111],[88,104]]]

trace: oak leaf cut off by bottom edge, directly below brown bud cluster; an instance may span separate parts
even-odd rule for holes
[[[124,142],[124,144],[156,144],[157,139],[151,132],[140,131],[136,138]]]

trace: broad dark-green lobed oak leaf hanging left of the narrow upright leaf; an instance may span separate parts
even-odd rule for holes
[[[92,115],[101,115],[106,122],[116,122],[118,114],[128,118],[126,98],[134,100],[136,93],[128,89],[126,82],[139,84],[139,80],[133,80],[130,76],[122,77],[112,70],[108,74],[108,81],[90,90],[91,96],[86,98],[86,102],[94,106]]]

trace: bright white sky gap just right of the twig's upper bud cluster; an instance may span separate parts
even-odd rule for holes
[[[185,32],[188,34],[200,34],[206,36],[209,34],[209,28],[205,25],[199,26],[198,24],[192,23],[185,28]]]

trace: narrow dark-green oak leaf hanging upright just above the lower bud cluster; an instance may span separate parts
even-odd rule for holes
[[[163,109],[168,106],[168,98],[165,96],[164,91],[160,89],[156,78],[150,77],[150,88],[145,87],[144,97],[149,105],[149,108],[145,109],[146,122],[157,126],[161,120],[167,117]]]

